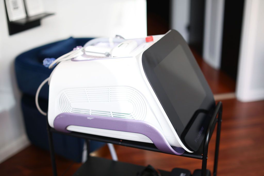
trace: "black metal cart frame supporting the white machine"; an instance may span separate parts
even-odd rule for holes
[[[214,128],[217,123],[217,131],[216,131],[216,144],[215,144],[215,157],[214,157],[214,170],[213,170],[213,176],[216,175],[217,172],[217,164],[218,164],[218,153],[219,153],[219,142],[220,142],[220,131],[221,131],[221,121],[222,121],[222,103],[218,102],[218,104],[215,107],[215,111],[213,113],[213,116],[211,117],[211,121],[208,125],[202,154],[200,153],[183,153],[183,157],[188,158],[195,158],[202,160],[202,169],[201,169],[201,175],[206,175],[206,166],[207,166],[207,159],[208,159],[208,145],[210,138],[214,132]],[[143,170],[144,166],[124,163],[120,161],[113,161],[109,159],[104,158],[98,158],[98,157],[92,157],[89,156],[89,141],[90,140],[96,140],[101,142],[107,142],[117,145],[123,145],[138,149],[144,149],[144,150],[150,150],[150,151],[156,151],[161,152],[158,150],[154,144],[149,144],[145,142],[136,142],[136,141],[129,141],[129,140],[120,140],[116,138],[111,137],[104,137],[104,136],[97,136],[97,135],[90,135],[90,134],[84,134],[79,132],[70,132],[70,133],[63,133],[56,131],[55,129],[51,128],[48,123],[48,117],[47,117],[47,131],[48,131],[48,137],[49,137],[49,147],[50,147],[50,156],[51,156],[51,164],[53,169],[53,175],[57,175],[56,170],[56,163],[55,163],[55,153],[54,153],[54,147],[53,147],[53,141],[52,141],[52,133],[62,133],[65,135],[75,136],[75,137],[81,137],[86,140],[87,142],[87,161],[77,170],[77,172],[74,175],[82,176],[82,175],[136,175],[137,172]],[[102,167],[103,166],[103,167]],[[161,174],[163,176],[169,176],[170,172],[160,170]]]

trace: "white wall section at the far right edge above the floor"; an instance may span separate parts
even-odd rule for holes
[[[263,0],[245,1],[236,85],[236,96],[243,102],[264,99],[263,9]]]

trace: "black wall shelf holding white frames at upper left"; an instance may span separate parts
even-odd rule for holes
[[[27,15],[26,18],[22,18],[20,20],[16,21],[10,21],[8,18],[7,8],[6,8],[6,1],[4,0],[5,9],[6,9],[6,18],[7,18],[7,25],[8,25],[8,32],[9,35],[16,34],[18,32],[22,32],[28,29],[31,29],[33,27],[40,26],[40,20],[42,18],[55,15],[55,13],[41,13],[35,16],[29,17]],[[27,12],[26,12],[27,14]]]

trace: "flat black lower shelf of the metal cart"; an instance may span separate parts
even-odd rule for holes
[[[88,157],[87,161],[74,173],[74,176],[136,176],[145,166],[113,161],[99,157]],[[159,170],[162,176],[169,176],[170,172]]]

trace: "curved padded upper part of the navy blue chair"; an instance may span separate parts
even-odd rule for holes
[[[70,41],[72,42],[73,38],[70,38]],[[78,38],[74,39],[76,40],[75,44],[77,45],[84,45],[87,41],[91,40],[92,38]],[[50,73],[53,69],[48,69],[45,66],[42,65],[42,61],[40,59],[40,52],[41,51],[47,51],[47,50],[56,50],[51,49],[58,47],[59,45],[63,45],[63,42],[67,43],[67,46],[70,46],[69,39],[62,40],[58,42],[53,42],[51,44],[47,44],[44,46],[37,47],[35,49],[26,51],[25,53],[20,54],[17,56],[15,60],[15,70],[16,70],[16,77],[17,77],[17,84],[19,89],[28,95],[35,96],[37,88],[41,84],[43,80],[49,77]],[[70,46],[71,47],[71,46]],[[74,46],[75,47],[75,46]],[[73,49],[73,48],[72,48]],[[71,50],[72,50],[71,49]],[[66,54],[69,49],[65,50]],[[48,55],[46,55],[48,56]],[[50,56],[51,58],[54,56]],[[45,59],[45,58],[43,58]],[[44,85],[43,88],[40,91],[39,97],[48,99],[49,95],[49,88],[48,85]]]

